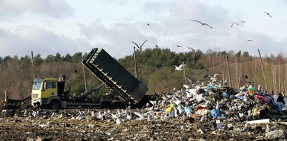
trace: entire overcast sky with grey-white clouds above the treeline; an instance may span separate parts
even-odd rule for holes
[[[264,13],[270,13],[272,17]],[[209,24],[201,26],[199,20]],[[245,23],[240,22],[244,20]],[[230,27],[233,22],[239,25]],[[149,26],[147,25],[149,24]],[[62,56],[104,48],[117,59],[143,49],[169,48],[287,57],[285,0],[1,0],[0,56]],[[246,40],[253,40],[246,42]]]

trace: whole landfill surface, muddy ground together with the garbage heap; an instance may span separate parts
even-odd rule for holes
[[[142,109],[1,104],[1,140],[287,140],[287,98],[252,85],[184,84]]]

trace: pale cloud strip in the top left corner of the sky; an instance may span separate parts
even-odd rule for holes
[[[21,16],[37,13],[48,17],[67,17],[74,9],[66,1],[60,0],[3,0],[0,1],[0,17]]]

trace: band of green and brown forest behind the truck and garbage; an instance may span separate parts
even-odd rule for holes
[[[218,76],[221,81],[228,81],[229,87],[242,87],[249,85],[243,75],[248,75],[248,81],[262,90],[269,93],[286,94],[287,87],[287,66],[283,54],[270,54],[262,58],[263,68],[259,57],[253,57],[249,52],[234,52],[207,50],[203,53],[200,50],[189,52],[172,52],[170,49],[152,48],[135,51],[138,80],[148,88],[147,94],[163,94],[174,88],[181,89],[185,84],[183,71],[176,71],[174,66],[186,64],[184,67],[186,75],[191,77],[193,82],[205,80],[205,75]],[[87,53],[76,52],[75,54],[50,54],[41,57],[41,54],[34,56],[36,77],[59,77],[67,76],[66,89],[71,88],[72,95],[84,92],[84,77],[81,61]],[[228,61],[227,58],[228,57]],[[126,70],[135,76],[135,62],[133,54],[117,59]],[[228,66],[230,79],[228,77]],[[265,80],[263,75],[265,71]],[[87,77],[87,88],[92,89],[101,82],[92,75],[87,68],[84,68]],[[9,98],[22,99],[31,95],[31,82],[34,79],[31,64],[31,55],[24,57],[0,57],[0,98],[3,100],[5,91],[8,91]],[[267,86],[267,87],[266,87]],[[98,94],[105,94],[108,89],[96,91]]]

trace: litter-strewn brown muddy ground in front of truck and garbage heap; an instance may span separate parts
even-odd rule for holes
[[[7,114],[1,113],[0,140],[286,140],[286,135],[275,138],[274,135],[267,135],[267,124],[252,124],[249,131],[242,132],[245,123],[234,119],[221,120],[216,124],[215,119],[204,123],[192,117],[138,120],[133,115],[133,119],[122,117],[121,123],[117,124],[112,114],[119,110],[52,111],[36,110],[29,105],[29,98],[10,101],[8,105],[1,103],[1,111],[7,110]],[[25,110],[30,114],[24,114]],[[34,111],[39,112],[36,117],[31,114]],[[108,114],[100,119],[91,116],[92,111]],[[78,118],[80,113],[84,114]],[[269,124],[271,131],[286,133],[286,121],[272,119]]]

